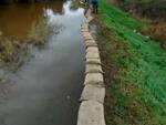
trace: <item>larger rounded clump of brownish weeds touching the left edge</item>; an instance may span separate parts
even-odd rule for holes
[[[15,71],[23,64],[27,46],[12,39],[0,39],[0,67]]]

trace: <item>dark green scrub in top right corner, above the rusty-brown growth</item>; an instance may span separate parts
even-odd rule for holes
[[[166,0],[116,0],[123,9],[148,18],[166,19]]]

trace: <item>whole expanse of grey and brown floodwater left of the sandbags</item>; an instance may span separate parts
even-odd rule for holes
[[[71,10],[70,3],[0,8],[6,35],[24,35],[41,14],[49,17],[48,24],[55,31],[42,50],[31,50],[34,58],[11,73],[10,83],[1,85],[0,125],[76,125],[84,80],[80,31],[84,10]]]

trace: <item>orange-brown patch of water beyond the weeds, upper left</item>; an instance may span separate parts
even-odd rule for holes
[[[63,0],[45,3],[0,6],[0,33],[4,37],[24,39],[32,24],[44,17],[44,11],[51,9],[62,13]]]

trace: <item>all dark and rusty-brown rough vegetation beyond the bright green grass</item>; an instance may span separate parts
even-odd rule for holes
[[[135,19],[148,23],[146,29],[139,29],[160,43],[166,50],[166,1],[164,0],[107,0],[110,3],[131,13]]]

